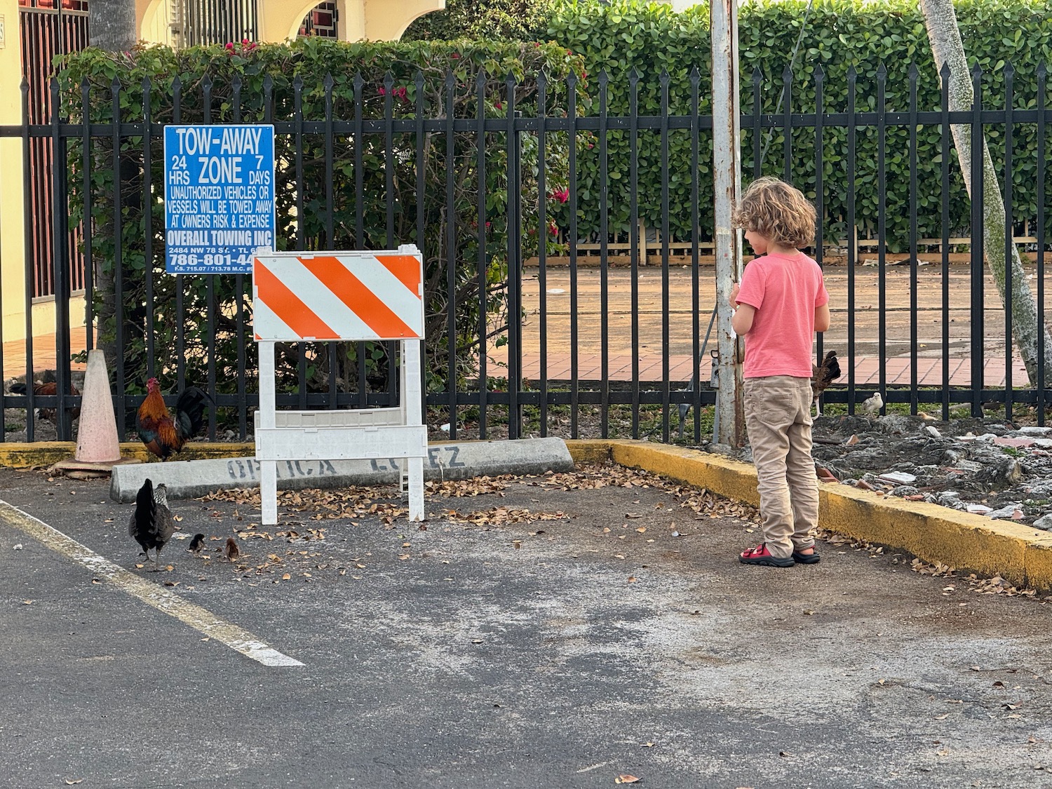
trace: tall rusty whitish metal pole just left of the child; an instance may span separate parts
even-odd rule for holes
[[[712,0],[712,173],[714,179],[716,258],[716,337],[720,350],[716,412],[720,444],[744,442],[742,401],[742,340],[730,326],[731,283],[742,275],[742,240],[731,213],[742,191],[742,150],[737,109],[737,0]]]

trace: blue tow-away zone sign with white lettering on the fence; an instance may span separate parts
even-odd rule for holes
[[[251,271],[275,247],[274,182],[274,126],[165,126],[165,268]]]

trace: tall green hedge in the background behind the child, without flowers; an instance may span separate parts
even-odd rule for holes
[[[758,2],[744,4],[740,11],[740,48],[742,63],[741,102],[744,112],[753,106],[752,73],[760,69],[762,79],[762,112],[773,113],[783,90],[783,70],[789,63],[801,32],[805,0]],[[1016,108],[1032,108],[1036,103],[1036,69],[1048,63],[1052,53],[1052,1],[1050,0],[962,0],[956,4],[957,18],[970,63],[978,63],[985,72],[984,102],[988,108],[1002,108],[1005,102],[1004,66],[1011,62],[1014,69],[1014,102]],[[659,77],[662,69],[670,75],[670,110],[688,114],[690,105],[689,73],[697,66],[702,73],[702,113],[709,112],[709,31],[708,6],[701,5],[675,14],[668,5],[641,0],[598,0],[567,2],[557,9],[549,25],[549,37],[579,53],[589,73],[588,92],[592,99],[588,112],[596,112],[595,76],[603,69],[610,79],[609,113],[628,113],[628,74],[641,75],[640,113],[660,112]],[[814,69],[821,63],[825,72],[825,110],[845,112],[847,108],[847,73],[857,72],[855,106],[859,112],[875,109],[877,101],[876,74],[881,64],[888,69],[886,107],[889,110],[909,109],[909,68],[915,63],[917,108],[939,108],[939,81],[925,31],[924,19],[915,1],[852,2],[852,0],[818,0],[811,11],[804,31],[801,53],[793,69],[792,110],[814,112]],[[1048,102],[1047,103],[1052,103]],[[784,112],[784,108],[783,108]],[[784,136],[780,129],[764,132],[765,174],[784,171]],[[640,190],[641,211],[650,226],[661,222],[661,178],[665,163],[660,160],[658,133],[641,133]],[[887,234],[893,248],[902,249],[909,238],[909,132],[905,126],[887,129]],[[939,199],[942,194],[940,135],[937,127],[925,127],[918,133],[918,232],[924,237],[942,235]],[[1004,129],[987,128],[987,140],[998,169],[1005,157]],[[752,129],[743,129],[743,170],[746,179],[753,171]],[[856,138],[856,219],[862,237],[877,232],[877,133],[875,127],[863,127]],[[628,142],[627,134],[612,132],[609,136],[610,171],[613,179],[613,201],[610,210],[612,231],[628,228]],[[690,237],[690,146],[687,133],[671,135],[668,162],[673,234],[681,239]],[[815,191],[815,159],[813,129],[795,129],[792,139],[793,181],[810,197]],[[594,232],[599,226],[595,185],[599,161],[596,148],[582,157],[582,234]],[[826,204],[826,238],[847,237],[844,226],[847,184],[847,130],[829,128],[824,133],[824,200]],[[711,227],[711,171],[709,161],[711,138],[703,134],[703,164],[700,173],[702,188],[703,235]],[[967,235],[969,205],[960,180],[956,156],[951,154],[950,207],[953,235]],[[1013,213],[1017,219],[1036,216],[1036,128],[1033,124],[1014,129],[1014,163],[1012,168]],[[566,218],[562,219],[565,223]]]

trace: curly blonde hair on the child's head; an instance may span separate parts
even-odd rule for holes
[[[796,249],[814,241],[814,206],[804,193],[771,176],[749,184],[734,211],[736,227]]]

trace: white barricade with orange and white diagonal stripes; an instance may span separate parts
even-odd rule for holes
[[[278,523],[277,462],[404,458],[402,490],[409,520],[424,520],[420,360],[424,341],[424,270],[412,244],[386,251],[260,252],[252,269],[252,328],[259,343],[260,462],[263,523]],[[394,408],[277,409],[274,344],[398,340],[401,398]]]

